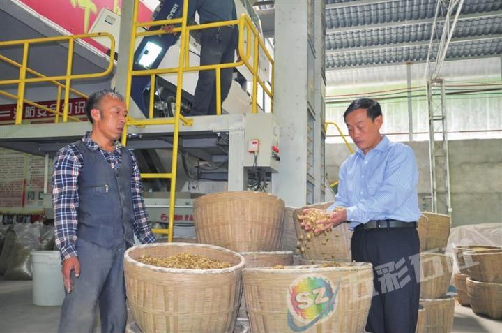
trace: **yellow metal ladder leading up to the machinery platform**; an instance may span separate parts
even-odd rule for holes
[[[173,147],[172,147],[172,163],[171,163],[171,172],[170,173],[142,173],[142,178],[162,178],[162,179],[171,179],[171,187],[169,191],[169,225],[167,229],[153,229],[152,232],[167,235],[167,241],[173,241],[173,230],[174,230],[174,205],[176,203],[176,166],[178,165],[178,138],[179,138],[179,126],[180,121],[183,121],[183,124],[187,126],[192,125],[192,119],[188,119],[183,117],[180,113],[181,111],[181,92],[183,87],[183,66],[185,57],[185,48],[188,47],[187,42],[188,38],[186,38],[186,34],[188,34],[187,26],[187,12],[188,12],[188,1],[183,1],[183,15],[181,18],[172,19],[172,20],[162,20],[155,22],[137,22],[138,17],[138,8],[139,8],[139,0],[135,0],[134,3],[134,12],[133,12],[133,23],[132,23],[132,33],[131,33],[131,41],[130,41],[130,49],[129,49],[129,64],[128,64],[128,77],[127,77],[127,85],[126,85],[126,105],[129,110],[130,106],[130,93],[131,93],[131,84],[132,84],[132,76],[150,76],[150,87],[155,87],[155,75],[157,75],[160,70],[142,70],[142,71],[133,71],[133,62],[134,62],[134,53],[135,53],[135,40],[140,36],[147,36],[148,32],[138,33],[137,28],[139,27],[151,27],[155,25],[165,25],[165,24],[181,24],[180,29],[174,29],[174,31],[181,31],[181,45],[180,45],[180,57],[178,64],[178,82],[176,87],[176,111],[174,112],[173,118],[158,118],[153,119],[153,98],[155,94],[155,89],[150,89],[150,105],[149,105],[149,118],[148,119],[132,119],[132,117],[128,117],[126,121],[126,126],[124,126],[124,130],[122,133],[122,145],[126,145],[127,143],[127,135],[128,135],[128,127],[129,126],[148,126],[148,125],[174,125],[173,132]],[[158,31],[157,31],[158,34]]]

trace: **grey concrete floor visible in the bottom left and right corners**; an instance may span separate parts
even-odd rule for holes
[[[32,298],[31,281],[2,281],[0,276],[0,333],[57,332],[61,306],[35,306]],[[97,324],[95,332],[100,332]],[[467,332],[501,333],[502,320],[478,316],[457,304],[452,333]]]

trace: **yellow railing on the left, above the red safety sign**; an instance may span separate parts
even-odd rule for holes
[[[47,37],[47,38],[36,38],[36,39],[25,39],[25,40],[10,40],[6,42],[0,42],[0,47],[10,47],[10,46],[16,46],[16,45],[22,45],[23,47],[23,56],[22,56],[22,63],[17,63],[16,61],[13,61],[12,59],[8,59],[7,57],[0,56],[0,60],[7,62],[8,64],[11,64],[13,66],[16,66],[17,68],[20,69],[20,75],[18,79],[12,79],[12,80],[0,80],[0,86],[1,85],[10,85],[10,84],[17,84],[17,95],[7,93],[6,91],[0,91],[0,94],[2,96],[6,96],[8,98],[13,98],[14,100],[17,101],[17,106],[16,106],[16,114],[15,114],[15,124],[19,125],[22,123],[22,110],[23,110],[23,105],[24,103],[33,105],[36,108],[40,108],[41,110],[45,110],[47,112],[51,112],[56,115],[54,121],[59,122],[59,116],[63,116],[63,123],[66,123],[68,119],[79,121],[78,118],[75,117],[69,117],[68,116],[68,109],[69,109],[69,100],[70,100],[70,92],[73,94],[76,94],[77,96],[82,96],[87,98],[85,94],[82,94],[81,92],[72,89],[70,87],[71,82],[74,80],[84,80],[84,79],[93,79],[96,77],[104,77],[108,75],[109,73],[112,73],[113,66],[114,66],[114,61],[113,58],[109,59],[109,64],[108,67],[105,69],[105,71],[100,72],[100,73],[87,73],[87,74],[73,74],[72,73],[72,68],[73,68],[73,50],[74,50],[74,45],[75,45],[75,40],[77,39],[82,39],[82,38],[96,38],[96,37],[107,37],[110,39],[110,54],[114,54],[115,52],[115,40],[111,34],[108,33],[96,33],[96,34],[80,34],[80,35],[72,35],[72,36],[57,36],[57,37]],[[28,68],[28,54],[29,54],[29,47],[30,45],[33,44],[41,44],[41,43],[62,43],[68,41],[68,59],[66,63],[66,75],[53,75],[53,76],[45,76],[42,75],[41,73],[38,73],[37,71],[33,71],[31,68]],[[31,75],[35,75],[36,77],[26,77],[26,74],[29,73]],[[62,84],[61,80],[64,80],[64,84]],[[57,105],[56,105],[56,110],[52,110],[51,108],[46,108],[43,105],[40,105],[38,103],[35,103],[33,101],[29,101],[26,98],[24,98],[24,94],[26,91],[26,84],[28,83],[35,83],[35,82],[51,82],[57,86],[58,92],[57,92]],[[64,104],[63,104],[63,112],[60,112],[61,108],[61,94],[62,94],[62,89],[65,89],[64,91]]]

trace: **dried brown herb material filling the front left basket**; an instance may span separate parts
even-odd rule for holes
[[[213,260],[205,256],[190,253],[178,253],[176,256],[167,258],[156,258],[153,256],[141,256],[137,259],[146,265],[152,265],[164,268],[180,268],[180,269],[222,269],[229,268],[232,265],[229,262]]]

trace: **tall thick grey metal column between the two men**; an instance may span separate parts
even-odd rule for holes
[[[301,207],[321,197],[321,85],[316,36],[324,1],[275,1],[274,114],[280,125],[280,168],[272,193]],[[295,31],[291,34],[291,31]],[[317,91],[316,91],[317,87]],[[317,101],[317,102],[316,102]]]

